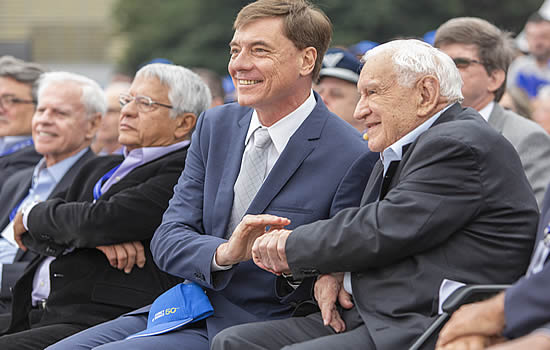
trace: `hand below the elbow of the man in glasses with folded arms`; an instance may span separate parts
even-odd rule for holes
[[[135,265],[142,268],[145,265],[145,249],[140,241],[125,242],[97,247],[109,260],[112,267],[132,272]]]

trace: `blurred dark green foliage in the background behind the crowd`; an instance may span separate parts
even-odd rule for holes
[[[249,0],[119,0],[118,31],[128,41],[121,70],[133,74],[143,63],[163,57],[188,67],[226,73],[232,24]],[[333,44],[385,42],[415,37],[449,18],[476,16],[518,33],[543,0],[313,0],[334,25]]]

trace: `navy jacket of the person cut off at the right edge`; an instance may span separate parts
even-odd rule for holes
[[[546,190],[537,231],[537,242],[544,236],[550,223],[550,187]],[[538,244],[538,243],[537,243]],[[529,278],[522,278],[506,291],[504,311],[506,329],[504,335],[517,338],[537,328],[550,330],[550,259],[544,268]]]

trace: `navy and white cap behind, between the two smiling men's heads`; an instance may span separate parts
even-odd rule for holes
[[[342,49],[329,49],[323,58],[319,77],[333,77],[357,83],[361,73],[361,61],[351,52]]]

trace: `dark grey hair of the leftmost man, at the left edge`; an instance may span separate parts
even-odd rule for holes
[[[0,57],[0,77],[12,78],[20,83],[30,85],[32,100],[36,101],[38,78],[45,69],[36,64],[25,62],[12,56]]]

